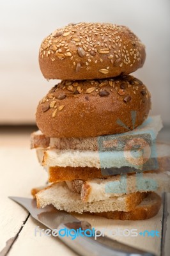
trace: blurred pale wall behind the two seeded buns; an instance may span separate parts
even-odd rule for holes
[[[70,22],[128,26],[146,45],[146,62],[134,76],[148,86],[151,114],[170,125],[169,0],[0,1],[0,125],[34,125],[38,101],[56,84],[38,66],[43,38]]]

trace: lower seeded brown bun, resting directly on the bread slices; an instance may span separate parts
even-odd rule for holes
[[[39,102],[36,123],[48,137],[95,137],[134,129],[147,118],[150,107],[146,86],[130,75],[63,80]]]

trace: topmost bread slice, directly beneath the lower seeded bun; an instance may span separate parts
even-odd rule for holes
[[[116,150],[122,150],[122,145],[118,145],[119,141],[130,140],[127,149],[135,143],[136,138],[145,139],[147,134],[151,136],[147,143],[151,145],[152,140],[157,138],[157,134],[162,129],[162,120],[160,116],[149,116],[142,125],[135,128],[133,131],[125,132],[123,134],[113,134],[94,138],[47,138],[41,131],[33,132],[31,134],[31,148],[56,148],[60,150],[100,150],[99,141],[101,137],[104,138],[105,147],[114,147]]]

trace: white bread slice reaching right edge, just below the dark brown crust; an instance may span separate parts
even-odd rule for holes
[[[112,196],[130,193],[158,191],[170,192],[170,175],[163,172],[114,175],[107,179],[66,181],[68,188],[81,194],[84,202],[106,200]]]

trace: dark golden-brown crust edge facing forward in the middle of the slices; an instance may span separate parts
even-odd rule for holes
[[[146,171],[146,172],[159,172],[158,170]],[[132,175],[134,173],[127,173],[127,175]],[[105,177],[111,177],[112,175],[107,175]],[[51,166],[49,167],[49,182],[61,182],[65,180],[92,180],[92,179],[102,179],[104,175],[102,170],[95,167],[62,167],[62,166]]]

